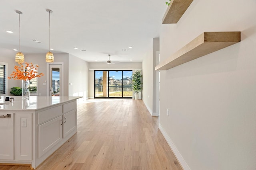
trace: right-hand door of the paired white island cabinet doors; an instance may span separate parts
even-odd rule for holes
[[[63,115],[63,138],[76,129],[76,110]]]

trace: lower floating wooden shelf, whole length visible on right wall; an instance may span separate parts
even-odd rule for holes
[[[204,32],[158,64],[155,70],[168,70],[240,42],[241,32]]]

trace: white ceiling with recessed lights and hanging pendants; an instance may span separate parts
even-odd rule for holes
[[[14,57],[13,49],[19,49],[15,11],[20,10],[21,52],[25,57],[47,53],[50,9],[53,54],[70,53],[88,62],[107,61],[108,54],[112,61],[142,61],[159,37],[166,8],[165,0],[0,0],[0,51]]]

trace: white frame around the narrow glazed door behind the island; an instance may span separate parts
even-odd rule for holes
[[[60,96],[64,94],[64,63],[63,62],[54,62],[54,63],[46,63],[46,96],[50,96],[50,65],[61,65],[61,73],[60,73]]]

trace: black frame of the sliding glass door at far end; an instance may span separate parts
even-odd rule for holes
[[[96,82],[95,82],[95,76],[96,76],[96,72],[97,71],[102,71],[102,72],[104,72],[104,71],[107,71],[108,72],[108,76],[107,76],[107,96],[106,97],[96,97]],[[115,96],[109,96],[109,78],[111,77],[110,75],[109,75],[109,72],[110,71],[122,71],[122,97],[115,97]],[[124,97],[124,78],[123,78],[123,72],[124,71],[130,71],[130,72],[132,72],[132,70],[94,70],[94,98],[132,98],[132,96],[133,96],[133,91],[132,91],[132,96],[130,96],[130,97]]]

